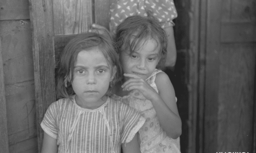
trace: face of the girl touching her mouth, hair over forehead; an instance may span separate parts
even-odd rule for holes
[[[143,44],[143,42],[142,42]],[[159,57],[160,47],[154,39],[148,39],[137,50],[130,53],[129,50],[120,53],[122,70],[124,73],[136,74],[142,79],[147,79],[154,72]],[[125,78],[128,80],[129,78]]]

